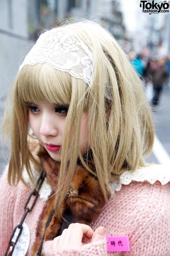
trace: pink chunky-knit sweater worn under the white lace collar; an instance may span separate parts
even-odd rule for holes
[[[24,205],[30,190],[20,182],[11,187],[7,182],[7,170],[1,178],[0,192],[0,256],[5,254],[12,230],[20,222],[24,213]],[[91,227],[106,228],[106,236],[129,237],[129,252],[108,252],[105,237],[97,236],[91,243],[80,249],[52,250],[52,241],[44,244],[46,256],[71,255],[129,255],[129,256],[169,256],[170,255],[170,182],[161,185],[156,181],[132,181],[122,185],[113,198],[102,209],[102,213]],[[27,256],[31,255],[31,247],[35,240],[35,226],[38,222],[44,203],[38,198],[33,210],[27,214],[25,222],[29,226],[31,241]]]

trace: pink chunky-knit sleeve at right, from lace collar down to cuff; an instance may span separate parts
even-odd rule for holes
[[[109,252],[102,237],[79,249],[52,250],[52,241],[44,243],[45,256],[114,255],[168,256],[170,244],[170,182],[161,185],[131,182],[115,192],[115,199],[102,208],[102,213],[90,226],[106,228],[106,236],[128,236],[130,251]],[[116,203],[115,203],[116,202]]]

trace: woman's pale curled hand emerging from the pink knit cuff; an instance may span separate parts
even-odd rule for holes
[[[99,227],[95,232],[90,226],[80,223],[72,223],[63,230],[61,236],[54,238],[53,249],[71,249],[82,247],[82,242],[93,240],[96,235],[103,236],[105,228]]]

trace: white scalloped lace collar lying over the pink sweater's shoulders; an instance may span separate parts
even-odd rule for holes
[[[39,177],[39,172],[37,172],[35,168],[33,168],[33,166],[32,172],[35,179],[37,180]],[[24,169],[23,171],[23,178],[25,182],[30,183],[30,179],[26,169]],[[123,174],[120,175],[120,177],[110,183],[111,190],[113,191],[113,193],[115,191],[119,191],[122,187],[122,184],[128,185],[129,183],[131,183],[131,181],[148,181],[150,184],[153,184],[155,181],[160,181],[162,185],[165,185],[170,181],[170,171],[167,166],[158,164],[154,164],[149,167],[139,168],[135,170],[135,172],[125,171]],[[31,186],[31,189],[33,189],[33,186]],[[45,179],[39,191],[39,195],[40,198],[42,198],[42,201],[47,201],[51,192],[52,188]]]

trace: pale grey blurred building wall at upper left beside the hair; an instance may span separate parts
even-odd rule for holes
[[[0,7],[0,98],[5,98],[18,70],[20,56],[30,46],[27,1],[1,0]]]

